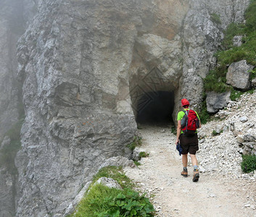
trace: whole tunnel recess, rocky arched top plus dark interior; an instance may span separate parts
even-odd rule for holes
[[[130,95],[136,123],[173,125],[176,84],[177,81],[165,77],[157,67],[131,76]]]

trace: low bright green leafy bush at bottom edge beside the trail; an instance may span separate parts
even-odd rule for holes
[[[145,195],[133,190],[117,190],[102,184],[91,187],[88,195],[81,200],[74,216],[117,217],[154,216],[153,205]]]

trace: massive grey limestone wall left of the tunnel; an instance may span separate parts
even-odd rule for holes
[[[41,1],[20,39],[17,216],[62,216],[104,160],[130,155],[136,122],[121,106],[136,35],[131,3]]]

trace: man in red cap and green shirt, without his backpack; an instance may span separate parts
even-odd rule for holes
[[[178,127],[177,127],[177,140],[176,144],[180,142],[181,148],[183,149],[182,151],[182,163],[183,163],[183,171],[181,172],[181,175],[184,177],[188,176],[188,169],[187,169],[187,164],[188,164],[188,153],[190,154],[191,157],[191,162],[192,165],[194,166],[194,175],[193,175],[193,182],[197,182],[199,179],[199,171],[197,167],[197,158],[196,158],[196,153],[198,148],[198,137],[197,137],[197,130],[194,132],[192,131],[190,134],[186,134],[183,132],[182,127],[181,127],[181,119],[185,115],[185,112],[189,112],[189,101],[186,98],[183,98],[181,100],[181,107],[183,108],[183,111],[178,112]],[[192,111],[192,110],[191,110]],[[192,111],[194,112],[194,111]],[[197,114],[197,112],[195,112]],[[199,119],[199,116],[197,114],[197,118],[199,121],[199,124],[197,128],[201,127],[201,122]]]

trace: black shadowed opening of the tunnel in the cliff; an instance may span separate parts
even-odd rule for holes
[[[136,122],[138,124],[173,124],[174,93],[168,91],[148,92],[139,98]]]

